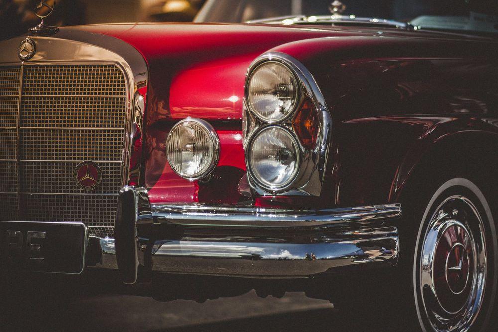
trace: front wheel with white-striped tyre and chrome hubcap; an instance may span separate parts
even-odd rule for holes
[[[481,190],[454,178],[432,196],[418,231],[413,295],[426,331],[490,327],[497,286],[497,237]]]

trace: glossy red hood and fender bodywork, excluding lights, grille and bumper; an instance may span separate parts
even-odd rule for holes
[[[462,150],[472,146],[465,142],[480,139],[489,147],[497,145],[498,48],[484,38],[325,26],[128,24],[81,29],[130,43],[148,63],[145,183],[155,203],[241,199],[217,198],[213,188],[218,184],[234,193],[234,174],[245,170],[242,144],[227,139],[227,130],[240,133],[246,69],[270,50],[287,53],[310,70],[333,117],[333,139],[320,197],[256,198],[256,205],[397,202],[420,163],[433,159],[444,142],[458,142]],[[226,179],[191,183],[167,165],[166,134],[186,116],[210,121],[220,134],[222,156],[215,173],[218,179],[227,171]],[[223,121],[228,120],[232,124],[227,129]],[[480,152],[493,155],[491,148],[484,149]]]

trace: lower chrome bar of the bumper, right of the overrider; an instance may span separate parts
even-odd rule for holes
[[[391,237],[324,243],[157,241],[153,270],[255,278],[303,278],[341,267],[395,265],[397,230]],[[370,264],[369,264],[370,265]]]

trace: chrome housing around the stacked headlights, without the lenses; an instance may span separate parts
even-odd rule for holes
[[[267,122],[261,120],[254,111],[249,107],[247,99],[247,89],[249,78],[252,72],[265,62],[279,62],[286,66],[297,78],[298,101],[295,103],[294,109],[285,118],[279,121]],[[328,150],[332,136],[332,117],[329,108],[325,102],[325,98],[318,87],[313,75],[310,71],[297,59],[292,56],[280,52],[268,52],[254,60],[246,73],[245,96],[243,103],[243,122],[249,130],[245,130],[243,135],[243,146],[246,149],[246,168],[248,170],[248,182],[254,193],[267,195],[306,195],[320,196],[322,185],[325,180],[325,168],[328,158]],[[269,189],[258,184],[254,178],[251,166],[248,160],[248,147],[253,136],[262,130],[268,124],[280,125],[290,130],[295,137],[295,132],[292,121],[298,114],[299,108],[303,102],[308,99],[313,103],[319,119],[318,139],[313,148],[304,148],[301,141],[297,139],[300,150],[300,170],[294,178],[294,182],[284,188]],[[248,124],[247,122],[250,122]]]

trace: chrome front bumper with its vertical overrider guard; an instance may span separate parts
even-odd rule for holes
[[[400,204],[303,211],[151,205],[145,188],[125,187],[115,239],[95,239],[102,249],[97,266],[115,266],[116,253],[128,284],[139,270],[299,278],[365,263],[392,266],[399,237],[389,221],[400,216]]]

